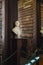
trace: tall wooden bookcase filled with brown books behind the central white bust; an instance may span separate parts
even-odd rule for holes
[[[22,29],[20,52],[22,53],[26,49],[24,52],[27,53],[27,58],[29,58],[36,49],[36,0],[18,1],[18,21]]]

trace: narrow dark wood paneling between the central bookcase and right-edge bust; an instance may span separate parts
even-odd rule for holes
[[[37,47],[40,48],[40,29],[41,29],[41,14],[40,14],[40,0],[37,1]]]

